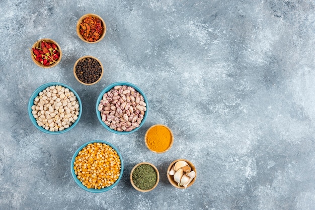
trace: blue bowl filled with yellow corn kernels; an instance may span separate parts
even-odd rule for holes
[[[109,142],[94,140],[73,154],[71,174],[75,183],[89,192],[105,192],[120,181],[124,171],[122,156]]]

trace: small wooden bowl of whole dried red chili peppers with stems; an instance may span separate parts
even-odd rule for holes
[[[62,51],[57,42],[52,39],[40,39],[31,49],[32,60],[43,68],[56,66],[62,57]]]

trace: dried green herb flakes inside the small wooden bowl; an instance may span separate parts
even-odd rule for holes
[[[157,181],[156,171],[148,164],[139,165],[132,173],[132,181],[142,190],[151,189]]]

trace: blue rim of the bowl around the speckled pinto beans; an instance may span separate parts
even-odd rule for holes
[[[102,121],[102,117],[101,117],[101,112],[98,110],[98,107],[99,107],[99,104],[100,104],[100,101],[101,99],[103,98],[103,95],[108,92],[109,90],[111,90],[114,86],[116,85],[127,85],[127,86],[130,86],[130,87],[133,87],[135,90],[137,90],[144,98],[144,102],[146,103],[146,111],[145,111],[145,115],[139,125],[138,128],[135,128],[133,129],[132,131],[115,131],[113,129],[110,129],[103,121]],[[97,101],[96,101],[96,115],[97,115],[97,118],[99,119],[100,123],[102,124],[102,126],[104,126],[108,131],[110,132],[113,132],[115,134],[130,134],[130,133],[133,133],[137,130],[139,130],[142,125],[144,124],[145,122],[145,119],[147,117],[147,114],[148,114],[148,111],[149,111],[149,106],[148,106],[148,101],[147,101],[147,98],[145,96],[145,94],[142,92],[142,90],[137,87],[136,85],[132,84],[132,83],[129,83],[129,82],[115,82],[115,83],[112,83],[110,85],[108,85],[99,95],[99,97],[97,98]]]

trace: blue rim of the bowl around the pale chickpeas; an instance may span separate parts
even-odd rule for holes
[[[74,93],[74,95],[76,96],[76,99],[78,100],[79,102],[79,106],[80,106],[80,112],[79,112],[79,115],[77,116],[77,120],[67,129],[64,129],[63,131],[49,131],[49,130],[46,130],[44,129],[43,127],[39,126],[37,123],[36,123],[36,120],[35,118],[33,117],[33,114],[32,114],[32,106],[34,105],[34,99],[35,97],[38,95],[38,93],[40,91],[43,91],[44,89],[46,89],[47,87],[50,87],[52,85],[60,85],[60,86],[63,86],[65,88],[68,88],[71,92]],[[59,83],[59,82],[50,82],[50,83],[46,83],[46,84],[43,84],[41,86],[39,86],[34,92],[33,94],[31,95],[31,98],[29,100],[29,103],[28,103],[28,113],[29,113],[29,116],[30,116],[30,119],[33,123],[33,125],[39,129],[40,131],[44,132],[44,133],[47,133],[47,134],[62,134],[62,133],[65,133],[69,130],[71,130],[72,128],[74,128],[74,126],[77,124],[77,122],[80,120],[81,118],[81,114],[82,114],[82,102],[81,102],[81,99],[80,97],[78,96],[78,94],[74,91],[74,89],[72,89],[71,87],[69,87],[68,85],[65,85],[65,84],[62,84],[62,83]]]

